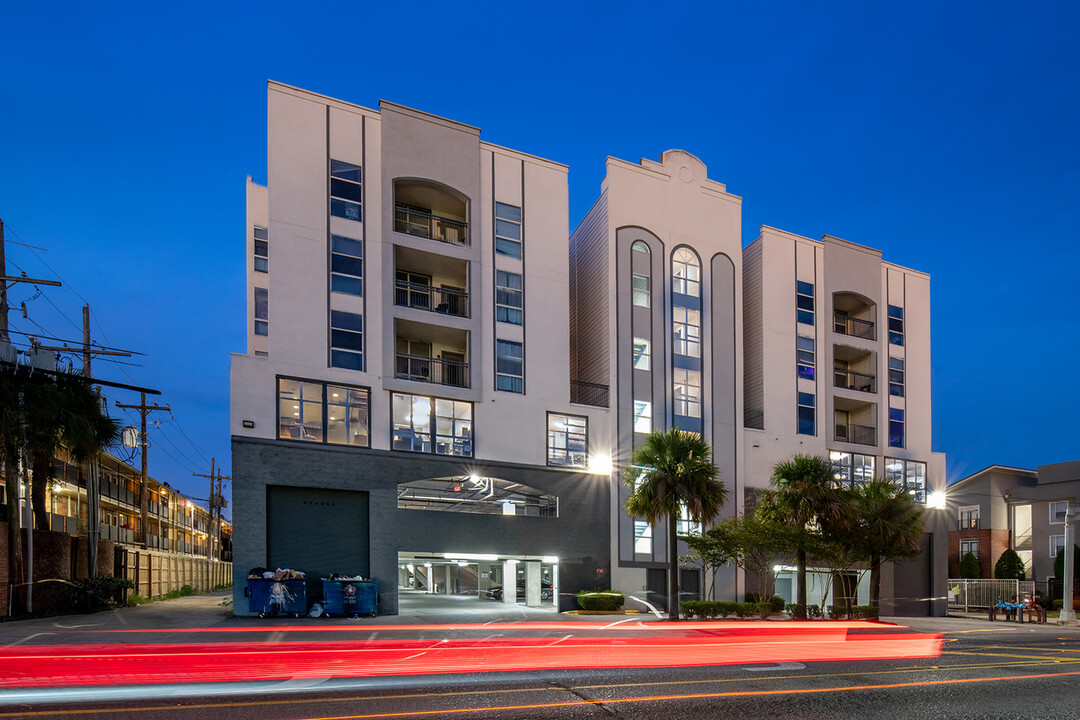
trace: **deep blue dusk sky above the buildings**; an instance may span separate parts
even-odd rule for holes
[[[64,282],[12,288],[14,338],[78,342],[87,302],[144,353],[94,375],[162,392],[150,473],[191,497],[229,471],[270,79],[565,163],[571,226],[607,155],[692,152],[744,244],[827,233],[931,275],[950,481],[1080,459],[1080,4],[9,2],[0,27],[8,269]]]

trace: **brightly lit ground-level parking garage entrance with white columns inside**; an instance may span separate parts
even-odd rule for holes
[[[558,558],[402,552],[397,554],[397,588],[403,600],[413,593],[445,596],[447,609],[462,607],[462,598],[475,598],[477,603],[524,604],[554,612],[558,609]]]

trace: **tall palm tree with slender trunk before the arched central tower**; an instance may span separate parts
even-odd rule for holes
[[[623,478],[632,489],[626,513],[656,525],[667,520],[667,616],[678,620],[679,512],[696,522],[712,520],[727,502],[728,491],[717,479],[713,449],[698,433],[678,427],[653,431],[631,456]]]

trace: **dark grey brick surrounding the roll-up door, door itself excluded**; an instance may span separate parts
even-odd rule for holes
[[[397,508],[397,485],[472,472],[522,483],[559,501],[557,518]],[[556,556],[562,593],[610,576],[610,479],[546,467],[379,450],[233,438],[234,607],[242,613],[247,570],[267,562],[267,486],[359,490],[369,498],[370,573],[382,610],[396,612],[397,553]],[[333,553],[333,546],[326,548]],[[597,570],[604,572],[597,574]],[[573,598],[567,601],[572,604]],[[567,608],[568,609],[568,608]]]

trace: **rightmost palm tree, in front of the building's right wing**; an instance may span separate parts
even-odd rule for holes
[[[859,512],[858,533],[853,539],[863,549],[870,569],[870,604],[881,597],[881,565],[914,560],[922,552],[926,530],[922,507],[903,487],[875,477],[854,490]]]

